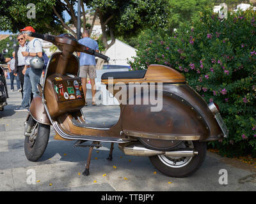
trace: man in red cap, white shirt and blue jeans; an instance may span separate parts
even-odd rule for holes
[[[19,108],[15,108],[15,111],[26,111],[29,108],[29,103],[31,101],[31,91],[33,97],[39,95],[39,91],[36,87],[37,84],[40,84],[40,77],[42,75],[43,69],[34,69],[30,67],[30,60],[35,57],[43,56],[42,44],[38,38],[28,36],[28,32],[31,31],[35,33],[35,29],[31,26],[27,26],[24,29],[20,30],[24,33],[26,40],[28,40],[28,45],[26,51],[22,52],[22,55],[25,57],[25,67],[22,71],[24,74],[24,97]]]

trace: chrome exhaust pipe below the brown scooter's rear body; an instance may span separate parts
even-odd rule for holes
[[[119,149],[124,152],[124,154],[129,156],[156,156],[159,154],[164,154],[165,156],[181,156],[181,157],[193,157],[198,152],[195,152],[194,150],[173,150],[173,151],[157,151],[152,149],[147,149],[147,147],[141,145],[141,144],[119,144]]]

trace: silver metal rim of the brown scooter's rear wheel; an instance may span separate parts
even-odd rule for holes
[[[180,148],[194,148],[193,142],[191,141],[185,141],[180,144]],[[164,154],[158,155],[159,159],[162,163],[164,163],[166,166],[170,166],[172,168],[181,168],[183,166],[188,165],[188,163],[193,159],[193,157],[182,157],[182,156],[173,156],[168,157]]]

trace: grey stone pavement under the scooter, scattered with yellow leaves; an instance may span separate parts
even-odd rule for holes
[[[10,89],[10,80],[8,88]],[[166,177],[147,157],[125,156],[115,144],[113,161],[108,161],[110,144],[93,149],[90,175],[84,177],[88,148],[73,147],[74,142],[54,140],[54,130],[47,149],[37,162],[24,154],[23,122],[26,112],[14,112],[20,105],[20,92],[10,98],[0,112],[0,191],[255,191],[256,168],[207,152],[205,162],[191,177]],[[119,106],[83,108],[89,120],[115,122]],[[227,170],[228,184],[221,185],[220,170]],[[31,177],[35,175],[35,177]],[[35,180],[31,180],[35,178]],[[35,183],[33,183],[35,182]]]

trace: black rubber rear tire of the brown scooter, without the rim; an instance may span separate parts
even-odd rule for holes
[[[201,164],[204,162],[206,156],[206,142],[198,142],[198,141],[191,141],[193,142],[193,146],[197,155],[194,157],[189,157],[188,164],[184,164],[181,167],[173,167],[172,165],[168,164],[167,162],[163,162],[164,160],[161,159],[161,156],[150,156],[149,159],[151,163],[157,168],[157,170],[161,171],[164,175],[168,177],[176,177],[176,178],[183,178],[188,177],[193,174]],[[166,157],[167,158],[167,157]]]

